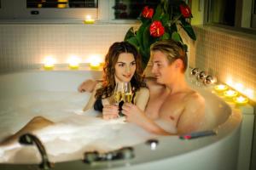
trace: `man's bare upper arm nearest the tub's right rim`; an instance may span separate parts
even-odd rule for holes
[[[198,93],[189,95],[185,109],[177,122],[177,133],[191,133],[200,130],[205,121],[205,99]]]

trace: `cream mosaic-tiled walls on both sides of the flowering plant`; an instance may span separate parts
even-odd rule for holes
[[[109,46],[122,41],[131,24],[1,24],[0,72],[38,68],[45,56],[67,63],[70,55],[89,62],[91,54],[102,59]],[[189,42],[189,65],[217,76],[231,78],[256,95],[256,36],[207,26],[195,26],[197,40]],[[185,35],[185,34],[184,34]]]

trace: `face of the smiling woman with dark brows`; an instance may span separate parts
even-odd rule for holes
[[[115,82],[130,82],[136,71],[136,61],[133,54],[121,53],[114,65]]]

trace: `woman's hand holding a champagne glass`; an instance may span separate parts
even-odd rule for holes
[[[118,105],[104,105],[102,110],[102,117],[105,120],[116,119],[119,117]]]

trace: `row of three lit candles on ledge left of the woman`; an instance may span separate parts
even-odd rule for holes
[[[68,67],[71,70],[78,70],[80,63],[80,59],[77,57],[72,57],[67,60]],[[55,59],[52,57],[47,57],[44,59],[44,70],[50,71],[55,68]],[[99,59],[91,59],[90,61],[90,69],[91,70],[100,70],[101,62]]]

